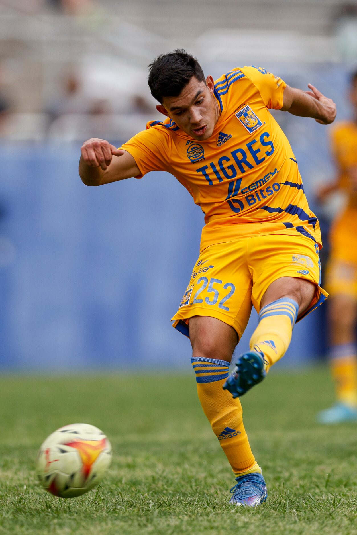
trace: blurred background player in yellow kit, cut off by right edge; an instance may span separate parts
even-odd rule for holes
[[[351,77],[350,102],[352,120],[338,123],[332,131],[337,178],[319,195],[320,201],[338,190],[347,196],[347,206],[330,231],[326,287],[332,297],[329,360],[337,403],[317,415],[324,424],[357,421],[357,72]]]

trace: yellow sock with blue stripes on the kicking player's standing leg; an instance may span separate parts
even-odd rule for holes
[[[238,398],[223,390],[228,377],[229,362],[217,358],[192,357],[196,373],[197,392],[212,430],[235,475],[260,472],[242,420],[242,407]]]

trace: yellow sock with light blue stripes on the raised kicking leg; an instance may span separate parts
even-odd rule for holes
[[[259,324],[250,338],[249,346],[263,353],[267,371],[285,355],[298,310],[296,301],[282,297],[265,305],[259,312]]]

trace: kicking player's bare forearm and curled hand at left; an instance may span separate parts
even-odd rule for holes
[[[93,137],[81,147],[79,175],[86,186],[101,186],[136,177],[140,170],[129,152]]]

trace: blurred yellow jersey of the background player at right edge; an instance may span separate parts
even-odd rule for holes
[[[338,166],[338,184],[348,196],[348,208],[357,208],[357,125],[344,121],[332,129],[331,150]]]

